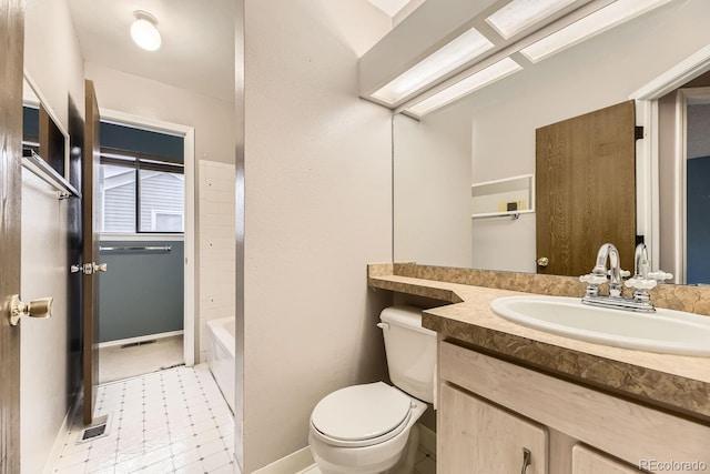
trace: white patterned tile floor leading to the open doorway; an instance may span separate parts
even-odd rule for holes
[[[206,365],[175,367],[99,386],[103,437],[78,443],[74,421],[55,474],[233,474],[234,418]]]

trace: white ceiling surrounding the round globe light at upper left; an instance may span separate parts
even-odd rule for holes
[[[232,0],[68,0],[84,60],[234,100]],[[158,19],[162,47],[143,51],[131,40],[134,10]]]

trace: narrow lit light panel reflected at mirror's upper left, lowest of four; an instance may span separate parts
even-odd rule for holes
[[[407,111],[422,117],[521,69],[523,67],[513,59],[504,58],[486,69],[481,69],[466,79],[449,85],[440,92],[408,107]]]

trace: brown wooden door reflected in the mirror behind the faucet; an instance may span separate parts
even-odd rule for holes
[[[633,270],[635,127],[628,101],[536,130],[538,273],[589,273],[606,242]]]

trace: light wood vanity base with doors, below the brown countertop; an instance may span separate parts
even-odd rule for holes
[[[653,461],[710,468],[710,427],[701,423],[445,340],[439,367],[439,473],[655,472]]]

